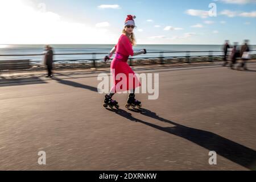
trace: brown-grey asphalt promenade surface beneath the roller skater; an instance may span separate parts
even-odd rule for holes
[[[98,73],[0,77],[0,170],[255,170],[256,64],[137,69],[159,98],[105,109]],[[46,165],[39,165],[39,151]],[[216,151],[217,165],[209,164]]]

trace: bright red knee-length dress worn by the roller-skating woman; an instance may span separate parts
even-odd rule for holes
[[[127,64],[129,56],[134,55],[130,39],[126,35],[122,34],[115,46],[115,50],[115,58],[113,59],[110,67],[114,79],[114,86],[112,90],[115,90],[115,92],[123,92],[126,90],[134,90],[141,86],[141,83],[134,71]]]

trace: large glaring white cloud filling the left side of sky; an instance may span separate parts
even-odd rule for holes
[[[118,35],[93,24],[70,22],[23,0],[0,1],[0,44],[112,43]],[[113,41],[113,40],[112,40]]]

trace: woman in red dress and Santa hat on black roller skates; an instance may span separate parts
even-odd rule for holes
[[[127,60],[129,56],[137,56],[142,53],[147,53],[146,49],[142,49],[141,51],[134,52],[133,46],[135,46],[135,37],[133,30],[135,28],[134,22],[135,16],[127,15],[125,20],[125,27],[123,28],[122,35],[120,36],[117,45],[110,51],[109,55],[105,57],[105,61],[110,60],[113,53],[115,53],[115,57],[111,63],[110,69],[114,78],[114,86],[110,90],[109,94],[105,95],[104,107],[110,108],[119,108],[118,102],[112,100],[112,97],[116,92],[123,92],[126,90],[130,90],[129,98],[127,100],[126,108],[130,106],[135,108],[141,108],[141,102],[135,99],[135,88],[141,86],[138,78],[135,76],[135,73],[127,64]],[[121,79],[117,78],[118,74],[125,75],[126,81],[124,81],[125,85],[119,86],[119,82]],[[133,82],[131,82],[132,80]],[[123,80],[122,80],[123,83]]]

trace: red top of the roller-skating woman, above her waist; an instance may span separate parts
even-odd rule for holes
[[[115,46],[117,53],[123,56],[133,56],[133,45],[130,42],[130,39],[122,34],[118,40],[117,45]]]

